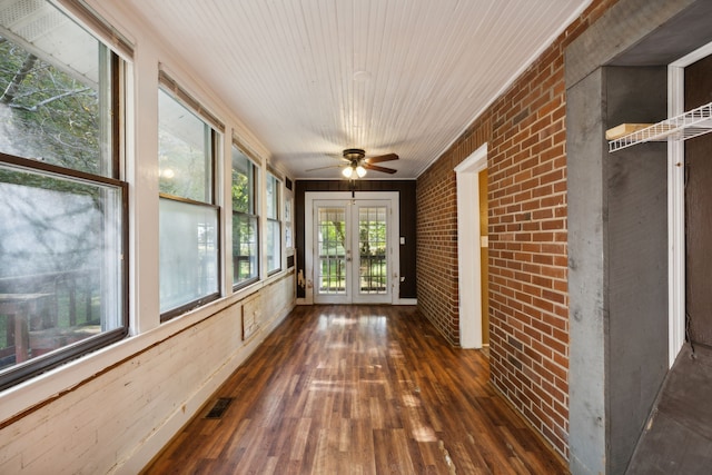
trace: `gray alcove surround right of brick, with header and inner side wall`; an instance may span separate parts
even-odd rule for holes
[[[621,0],[566,50],[574,474],[626,469],[668,365],[666,147],[609,154],[605,130],[665,117],[666,66],[712,40],[711,13]]]

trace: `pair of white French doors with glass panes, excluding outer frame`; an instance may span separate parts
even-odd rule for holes
[[[390,201],[313,201],[314,301],[392,303]]]

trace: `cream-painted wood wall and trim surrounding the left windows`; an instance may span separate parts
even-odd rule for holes
[[[131,336],[0,392],[0,474],[140,472],[295,305],[293,269],[237,294],[228,277],[225,297],[160,323],[158,65],[225,121],[228,157],[233,135],[260,157],[263,170],[270,156],[205,87],[200,71],[158,43],[150,28],[126,12],[107,10],[100,0],[88,3],[135,47],[127,83]],[[229,164],[225,157],[221,161]],[[224,175],[222,202],[229,204],[230,177]],[[231,241],[229,229],[221,241]],[[230,276],[230,269],[225,274]],[[260,326],[243,342],[241,305],[256,291],[263,303]]]

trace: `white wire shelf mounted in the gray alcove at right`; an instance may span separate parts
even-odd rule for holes
[[[622,125],[620,127],[624,130],[625,126],[626,125]],[[609,152],[622,150],[637,144],[664,140],[688,140],[703,133],[712,132],[712,102],[650,126],[630,126],[634,129],[633,131],[621,137],[615,137],[609,141]],[[619,127],[610,129],[609,132],[616,129],[619,129]]]

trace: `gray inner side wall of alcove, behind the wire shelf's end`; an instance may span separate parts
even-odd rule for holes
[[[665,67],[604,68],[606,128],[666,117]],[[610,473],[623,473],[668,370],[668,146],[604,157]],[[605,288],[605,287],[604,287]]]

